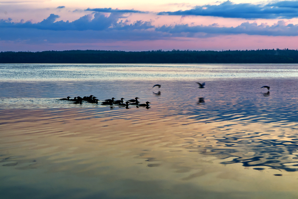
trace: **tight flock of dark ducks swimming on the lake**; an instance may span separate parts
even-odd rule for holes
[[[95,96],[90,95],[89,97],[85,96],[83,98],[81,97],[75,97],[74,99],[70,99],[71,97],[67,97],[67,98],[62,98],[59,100],[68,100],[68,101],[73,101],[72,103],[76,103],[76,104],[82,104],[82,101],[86,101],[89,103],[98,103],[98,99]],[[121,98],[121,100],[115,100],[115,98],[112,99],[108,99],[108,100],[103,100],[101,102],[101,105],[109,105],[109,106],[113,106],[113,105],[117,105],[119,107],[126,107],[128,108],[129,105],[136,105],[137,107],[139,106],[145,106],[146,108],[149,108],[149,101],[146,101],[146,103],[140,103],[140,101],[138,100],[140,98],[135,98],[132,100],[127,100],[125,103],[123,100],[125,100],[124,98]]]

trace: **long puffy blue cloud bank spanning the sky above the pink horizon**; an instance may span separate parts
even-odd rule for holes
[[[0,40],[41,45],[43,43],[93,43],[107,41],[152,41],[185,38],[207,38],[219,35],[265,35],[298,36],[298,24],[286,24],[284,20],[274,25],[243,22],[236,27],[220,27],[177,24],[156,27],[150,21],[131,23],[121,13],[109,16],[96,12],[84,15],[73,22],[58,20],[59,15],[50,14],[38,23],[31,21],[12,22],[11,18],[0,19]],[[121,20],[120,20],[121,19]]]

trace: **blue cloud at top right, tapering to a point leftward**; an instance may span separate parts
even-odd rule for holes
[[[298,17],[298,1],[279,1],[266,5],[239,3],[235,4],[229,0],[219,5],[202,5],[188,10],[173,12],[159,12],[158,15],[200,15],[216,16],[225,18],[245,19],[273,19],[273,18],[295,18]]]

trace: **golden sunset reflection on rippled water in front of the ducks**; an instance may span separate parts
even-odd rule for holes
[[[298,197],[298,174],[288,172],[298,169],[295,122],[205,122],[154,108],[7,109],[0,122],[7,194],[19,186],[61,198]]]

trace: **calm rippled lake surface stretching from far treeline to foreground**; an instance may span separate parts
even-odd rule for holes
[[[298,65],[0,64],[0,199],[297,199],[297,86]]]

